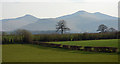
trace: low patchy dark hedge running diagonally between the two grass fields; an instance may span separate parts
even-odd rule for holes
[[[46,46],[46,47],[54,47],[54,48],[64,48],[70,50],[81,50],[81,51],[89,51],[89,52],[105,52],[105,53],[116,53],[118,49],[115,47],[92,47],[92,46],[75,46],[75,45],[61,45],[61,44],[53,44],[53,43],[42,43],[42,42],[32,42],[32,44]]]

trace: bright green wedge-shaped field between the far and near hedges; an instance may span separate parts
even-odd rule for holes
[[[118,39],[107,40],[86,40],[86,41],[61,41],[61,42],[46,42],[63,45],[77,45],[77,46],[102,46],[102,47],[118,47]]]

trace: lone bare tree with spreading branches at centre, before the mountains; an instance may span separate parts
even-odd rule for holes
[[[65,31],[69,31],[70,28],[66,27],[66,22],[64,20],[60,20],[57,25],[56,25],[56,29],[58,31],[61,32],[61,34],[63,34]]]

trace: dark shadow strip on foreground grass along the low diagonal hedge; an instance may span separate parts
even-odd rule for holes
[[[27,46],[36,47],[39,49],[49,49],[53,51],[61,51],[61,52],[68,52],[68,53],[78,53],[78,54],[109,54],[109,55],[116,55],[117,53],[103,53],[103,52],[88,52],[88,51],[80,51],[80,50],[69,50],[64,48],[53,48],[53,47],[44,47],[40,45],[34,45],[34,44],[27,44]]]

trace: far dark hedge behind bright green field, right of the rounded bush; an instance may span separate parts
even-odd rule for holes
[[[83,34],[40,34],[34,35],[33,41],[78,41],[78,40],[98,40],[117,39],[118,33],[83,33]]]

